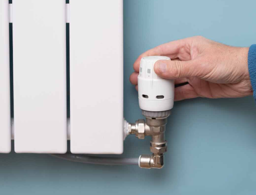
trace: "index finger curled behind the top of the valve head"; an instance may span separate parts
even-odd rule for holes
[[[152,55],[166,55],[171,59],[178,58],[178,54],[181,48],[184,48],[190,38],[180,39],[177,41],[171,41],[169,43],[164,43],[155,48],[148,50],[147,52],[142,53],[138,59],[134,62],[133,68],[136,72],[139,72],[139,63],[141,58]]]

